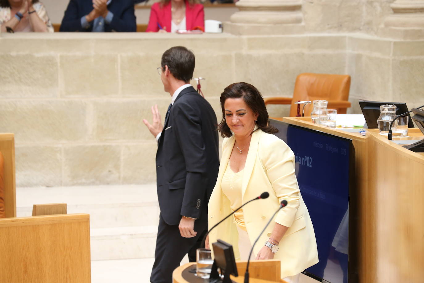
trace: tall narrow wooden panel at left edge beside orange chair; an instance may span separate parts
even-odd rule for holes
[[[0,151],[4,157],[4,189],[6,217],[16,217],[15,138],[14,134],[0,133]]]

